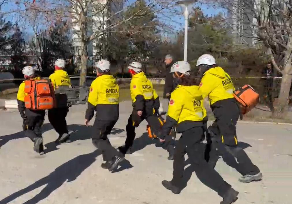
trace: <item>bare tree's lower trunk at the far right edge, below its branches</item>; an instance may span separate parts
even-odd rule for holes
[[[288,98],[291,87],[292,75],[283,73],[281,81],[281,89],[278,102],[275,105],[274,115],[277,118],[285,118],[288,111]]]

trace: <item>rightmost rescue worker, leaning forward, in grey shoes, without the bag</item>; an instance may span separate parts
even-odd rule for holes
[[[236,123],[240,115],[239,107],[233,97],[234,86],[230,76],[216,66],[212,55],[202,55],[197,60],[201,78],[199,90],[202,98],[208,96],[211,109],[216,118],[208,128],[211,138],[209,163],[214,168],[219,155],[223,158],[233,156],[237,171],[241,173],[240,182],[248,183],[262,179],[259,168],[254,165],[241,147],[238,147]]]

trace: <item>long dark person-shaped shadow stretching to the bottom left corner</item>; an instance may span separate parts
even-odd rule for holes
[[[79,155],[57,167],[48,176],[39,179],[33,184],[27,186],[26,188],[17,191],[10,196],[7,196],[3,200],[0,200],[0,203],[9,203],[12,200],[24,195],[25,193],[46,185],[40,193],[36,194],[33,198],[25,202],[25,204],[38,203],[39,201],[48,197],[53,191],[58,189],[64,182],[74,181],[86,168],[88,168],[96,160],[96,157],[100,154],[101,153],[99,150],[95,150],[89,154]]]

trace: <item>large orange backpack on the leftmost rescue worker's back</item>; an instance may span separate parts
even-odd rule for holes
[[[26,80],[24,92],[25,107],[33,110],[54,108],[54,89],[49,79]]]

